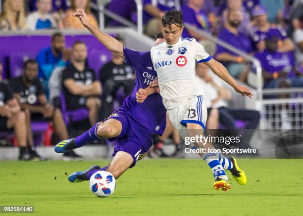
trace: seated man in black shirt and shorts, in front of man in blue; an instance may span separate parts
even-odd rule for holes
[[[54,134],[61,139],[68,139],[68,132],[63,121],[61,111],[47,103],[43,87],[38,79],[38,63],[35,60],[27,60],[24,63],[24,73],[20,77],[10,80],[10,87],[14,97],[18,100],[22,110],[31,121],[52,122]],[[32,136],[31,125],[26,127],[28,134]],[[82,159],[73,151],[64,153],[63,159]]]

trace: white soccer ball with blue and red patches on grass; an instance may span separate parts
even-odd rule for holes
[[[116,179],[106,171],[98,171],[91,176],[90,190],[98,197],[108,197],[115,191]]]

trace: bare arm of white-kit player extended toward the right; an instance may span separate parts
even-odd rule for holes
[[[251,90],[246,86],[240,86],[234,78],[232,78],[229,73],[227,72],[226,68],[219,62],[217,62],[214,59],[211,59],[207,62],[203,62],[206,64],[212,71],[215,73],[218,77],[220,77],[222,80],[224,80],[226,83],[228,83],[230,86],[232,86],[235,91],[239,92],[243,96],[248,96],[250,98],[253,97],[253,94]]]

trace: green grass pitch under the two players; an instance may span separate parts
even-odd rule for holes
[[[201,160],[143,160],[117,180],[115,193],[98,198],[88,182],[70,183],[67,175],[86,170],[85,162],[0,162],[0,205],[33,205],[41,216],[301,216],[303,161],[243,159],[248,183],[212,188]],[[65,174],[66,173],[66,174]]]

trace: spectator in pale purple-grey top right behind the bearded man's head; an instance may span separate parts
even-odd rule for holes
[[[243,6],[242,0],[227,0],[227,7],[222,13],[222,23],[224,27],[226,27],[226,24],[228,25],[228,11],[232,10],[240,11],[239,14],[241,16],[241,23],[238,26],[238,31],[245,35],[249,35],[252,30],[250,14]]]

